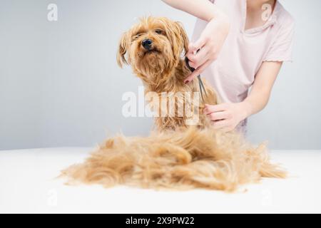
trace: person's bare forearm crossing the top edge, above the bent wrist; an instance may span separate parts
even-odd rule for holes
[[[227,16],[218,6],[208,0],[162,0],[166,4],[180,9],[204,21],[212,19],[226,19]]]

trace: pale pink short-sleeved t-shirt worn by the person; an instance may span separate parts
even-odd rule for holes
[[[218,59],[202,76],[217,90],[223,102],[238,103],[248,96],[264,61],[292,60],[294,20],[277,1],[264,26],[245,31],[246,0],[215,0],[214,4],[230,16],[230,33]],[[265,7],[263,13],[264,10]],[[198,39],[205,26],[206,22],[198,19],[193,41]]]

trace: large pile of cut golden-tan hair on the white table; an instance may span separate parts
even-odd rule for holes
[[[63,175],[70,184],[234,191],[261,177],[285,177],[285,172],[270,163],[264,144],[253,147],[240,134],[190,127],[146,138],[118,135]]]

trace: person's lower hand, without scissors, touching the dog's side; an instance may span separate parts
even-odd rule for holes
[[[242,120],[248,118],[247,107],[244,103],[205,105],[203,113],[213,121],[215,129],[222,129],[225,132],[234,130]]]

